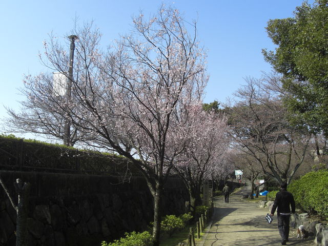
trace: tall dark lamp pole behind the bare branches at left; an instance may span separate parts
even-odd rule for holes
[[[70,99],[72,97],[73,60],[74,60],[74,49],[75,49],[75,43],[74,42],[77,39],[77,36],[70,35],[68,38],[71,40],[71,46],[70,46],[70,61],[69,61],[66,96],[67,96],[67,101],[70,101]],[[65,134],[64,135],[64,145],[72,146],[70,119],[67,119],[67,121],[66,121],[65,133],[64,134]]]

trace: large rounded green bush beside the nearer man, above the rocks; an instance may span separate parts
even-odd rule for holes
[[[310,214],[328,219],[328,170],[310,172],[290,183],[296,206]]]

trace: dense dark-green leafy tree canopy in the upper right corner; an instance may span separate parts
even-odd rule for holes
[[[292,122],[327,135],[328,1],[304,2],[294,17],[269,20],[267,32],[277,48],[262,53],[283,75],[283,100]]]

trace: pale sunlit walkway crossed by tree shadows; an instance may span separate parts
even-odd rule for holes
[[[277,216],[268,224],[264,216],[268,209],[259,209],[257,202],[241,200],[245,189],[230,196],[230,202],[224,203],[222,197],[214,199],[214,215],[203,240],[197,246],[264,246],[281,245]],[[313,238],[301,241],[291,229],[287,245],[314,245]]]

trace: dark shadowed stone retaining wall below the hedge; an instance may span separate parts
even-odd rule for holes
[[[143,177],[120,183],[120,177],[1,172],[15,194],[13,181],[31,183],[29,244],[100,245],[125,232],[143,231],[153,220],[153,198]],[[185,212],[188,191],[178,178],[165,187],[163,214]],[[15,245],[16,213],[0,187],[0,246]]]

